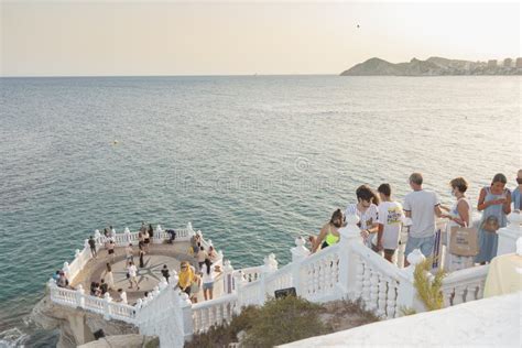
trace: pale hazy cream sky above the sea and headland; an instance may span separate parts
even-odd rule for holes
[[[521,56],[518,1],[34,0],[0,12],[0,76],[339,74],[374,56]]]

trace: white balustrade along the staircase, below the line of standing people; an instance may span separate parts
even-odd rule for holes
[[[246,305],[261,305],[274,291],[295,287],[297,295],[314,302],[327,302],[347,298],[360,300],[365,307],[381,318],[402,316],[403,309],[424,312],[425,307],[416,295],[413,273],[415,267],[425,260],[414,250],[409,257],[410,265],[400,268],[390,263],[362,244],[358,218],[347,217],[348,226],[340,232],[338,244],[328,247],[309,255],[304,247],[304,239],[297,238],[296,247],[291,249],[292,262],[278,269],[273,254],[264,259],[261,267],[247,268],[229,272],[233,275],[230,295],[224,300],[211,300],[197,304],[197,315],[193,322],[198,330],[230,319],[230,313],[240,312]],[[499,231],[499,246],[514,250],[515,240],[522,237],[520,216],[510,216],[511,224]],[[437,221],[437,229],[444,230],[445,221]],[[503,253],[499,247],[499,254]],[[401,258],[401,255],[399,255]],[[438,265],[434,264],[434,269]],[[452,272],[443,280],[445,305],[452,306],[464,302],[482,298],[483,283],[488,267]],[[224,313],[227,315],[210,315]],[[231,311],[232,308],[233,311]],[[207,313],[207,314],[203,314]],[[194,316],[196,315],[196,316]]]

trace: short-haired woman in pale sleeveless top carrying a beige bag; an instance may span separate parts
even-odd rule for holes
[[[444,206],[441,207],[443,210],[448,211],[448,214],[443,215],[443,217],[449,219],[449,222],[446,227],[446,246],[449,246],[452,227],[472,226],[472,206],[465,195],[466,191],[468,189],[468,183],[464,177],[456,177],[449,182],[449,185],[452,186],[452,196],[454,196],[457,200],[455,202],[455,205],[452,207],[452,209]],[[445,263],[445,268],[449,272],[463,270],[474,265],[474,257],[459,257],[449,253],[449,250],[447,250]]]

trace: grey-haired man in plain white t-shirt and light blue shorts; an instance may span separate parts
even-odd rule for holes
[[[410,187],[413,192],[404,197],[404,213],[413,224],[407,236],[406,250],[404,251],[404,267],[407,267],[407,255],[415,249],[427,258],[433,253],[435,244],[435,217],[441,217],[441,203],[437,194],[422,188],[421,173],[410,175]]]

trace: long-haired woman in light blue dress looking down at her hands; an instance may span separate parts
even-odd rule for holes
[[[505,188],[508,178],[503,174],[494,175],[491,186],[480,191],[477,209],[482,211],[479,228],[479,254],[475,262],[486,264],[497,255],[498,230],[508,225],[511,213],[511,193]]]

